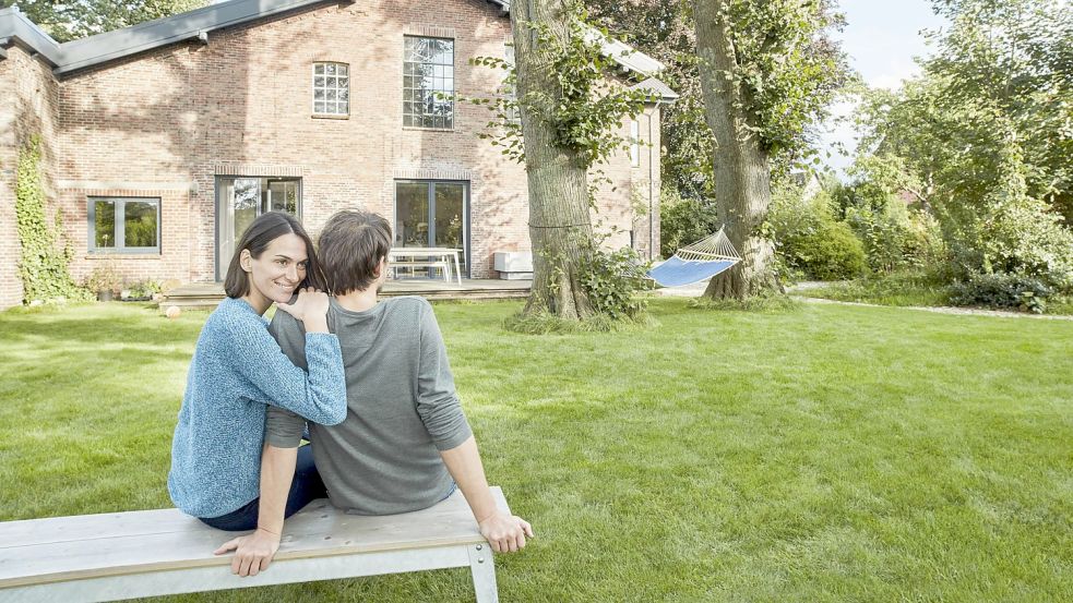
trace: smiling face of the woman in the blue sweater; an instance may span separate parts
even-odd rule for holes
[[[308,261],[306,242],[294,233],[273,239],[261,257],[242,250],[242,269],[250,279],[246,301],[262,314],[272,302],[290,301],[295,289],[306,279]]]

